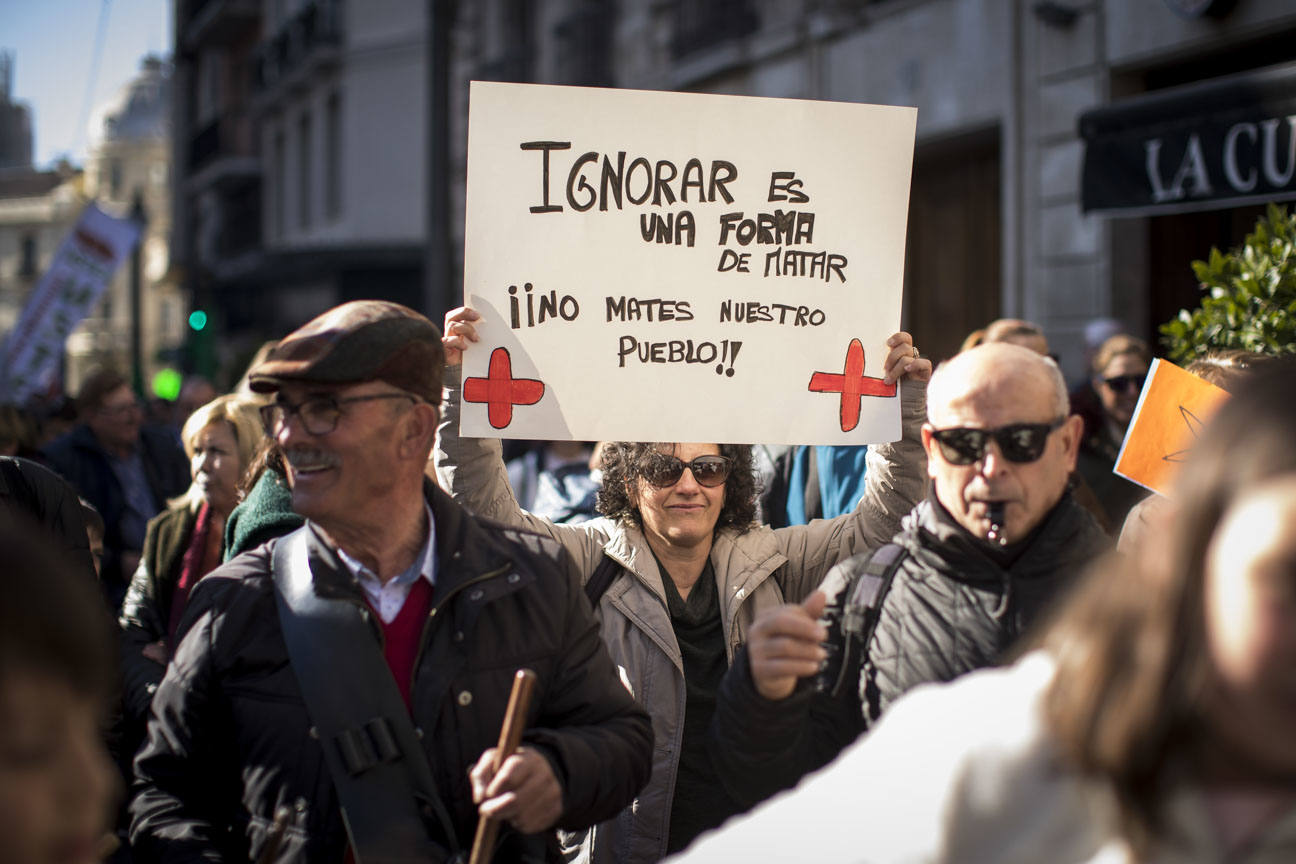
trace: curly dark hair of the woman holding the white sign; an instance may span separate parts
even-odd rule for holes
[[[630,525],[640,525],[639,506],[630,497],[631,483],[640,474],[645,456],[653,452],[674,453],[679,444],[610,442],[603,446],[603,486],[599,487],[596,506],[599,513],[613,519],[625,519]],[[724,481],[724,504],[715,521],[717,529],[737,529],[740,532],[752,527],[756,521],[756,496],[759,484],[752,464],[750,444],[721,444],[721,456],[734,462],[728,479]]]

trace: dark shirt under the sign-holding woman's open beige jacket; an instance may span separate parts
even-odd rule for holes
[[[743,807],[724,793],[706,746],[706,729],[715,712],[715,693],[728,670],[715,570],[708,560],[702,575],[688,592],[688,600],[684,600],[661,561],[657,566],[666,587],[675,641],[684,661],[684,734],[679,747],[675,798],[670,804],[669,855],[741,812]]]

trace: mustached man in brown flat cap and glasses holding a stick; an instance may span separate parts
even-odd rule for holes
[[[298,531],[191,595],[136,760],[131,839],[161,861],[555,860],[613,816],[652,728],[553,541],[480,521],[424,478],[441,333],[395,303],[333,308],[251,370]],[[537,674],[495,771],[515,672]]]

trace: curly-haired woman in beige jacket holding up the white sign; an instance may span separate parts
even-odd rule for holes
[[[907,333],[888,339],[886,378],[905,380],[905,437],[870,448],[867,488],[853,513],[758,526],[750,446],[616,442],[603,449],[601,518],[553,525],[518,508],[499,440],[459,438],[460,360],[480,320],[469,308],[446,315],[437,475],[474,513],[553,536],[570,552],[603,640],[652,715],[657,747],[635,806],[566,838],[568,851],[582,847],[594,861],[656,861],[741,810],[712,767],[706,729],[752,620],[802,601],[832,565],[890,540],[921,497],[919,429],[932,364],[916,356]]]

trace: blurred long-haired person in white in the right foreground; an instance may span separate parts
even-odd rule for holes
[[[915,690],[836,763],[682,860],[1296,860],[1296,400],[1283,367],[1210,421],[1170,530],[1096,566],[1034,650]]]

